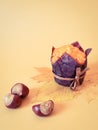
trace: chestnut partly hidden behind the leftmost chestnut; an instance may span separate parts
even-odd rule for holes
[[[17,94],[21,98],[26,97],[29,94],[29,88],[23,84],[23,83],[16,83],[12,88],[11,88],[11,93],[12,94]]]

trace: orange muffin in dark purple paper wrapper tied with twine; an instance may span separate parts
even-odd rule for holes
[[[54,80],[65,87],[75,89],[84,81],[87,56],[91,48],[84,51],[79,42],[52,48],[51,64]]]

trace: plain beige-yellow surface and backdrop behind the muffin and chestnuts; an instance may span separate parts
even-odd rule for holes
[[[54,83],[50,56],[52,46],[75,41],[93,50],[84,84],[72,92]],[[97,0],[0,0],[0,130],[98,130],[97,44]],[[17,82],[30,93],[7,109],[3,98]],[[32,105],[47,99],[52,115],[36,116]]]

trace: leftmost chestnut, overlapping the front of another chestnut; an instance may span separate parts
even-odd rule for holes
[[[7,94],[4,97],[4,104],[8,108],[17,108],[21,105],[22,99],[19,95]]]

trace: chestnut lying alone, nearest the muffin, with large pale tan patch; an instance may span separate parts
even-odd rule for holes
[[[48,116],[52,113],[53,109],[54,102],[52,100],[48,100],[32,106],[33,112],[38,116]]]

